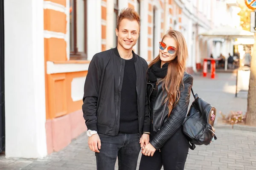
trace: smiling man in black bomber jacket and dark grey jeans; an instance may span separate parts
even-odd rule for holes
[[[150,119],[145,59],[132,51],[140,16],[132,8],[117,17],[116,48],[95,54],[84,84],[84,119],[97,170],[136,170],[141,147],[148,144]]]

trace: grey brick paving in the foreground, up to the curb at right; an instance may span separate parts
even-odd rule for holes
[[[256,170],[256,132],[217,127],[216,136],[212,144],[189,150],[185,170]],[[96,159],[83,133],[44,159],[6,159],[2,155],[0,170],[96,170]]]

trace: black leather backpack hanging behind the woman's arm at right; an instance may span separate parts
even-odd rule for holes
[[[216,109],[204,99],[194,95],[194,102],[190,106],[189,112],[183,122],[183,133],[189,140],[189,148],[194,150],[196,145],[208,145],[216,140],[213,124],[216,116]]]

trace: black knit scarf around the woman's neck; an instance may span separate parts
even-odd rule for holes
[[[169,62],[166,62],[161,68],[161,60],[156,62],[150,68],[148,68],[148,80],[150,82],[156,82],[157,78],[166,77]]]

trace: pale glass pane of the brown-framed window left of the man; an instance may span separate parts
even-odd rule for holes
[[[77,48],[84,52],[84,0],[76,0]]]

